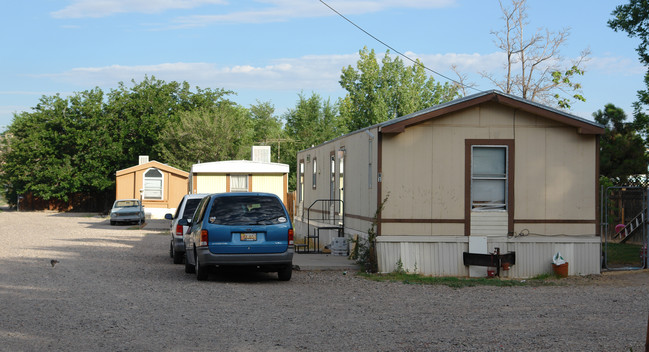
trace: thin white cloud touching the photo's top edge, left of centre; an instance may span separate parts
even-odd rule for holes
[[[225,0],[72,0],[70,5],[51,15],[54,18],[98,18],[116,13],[159,13],[225,3]]]

